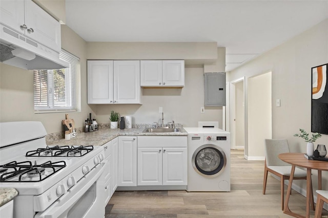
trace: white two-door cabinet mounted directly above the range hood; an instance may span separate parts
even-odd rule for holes
[[[1,1],[1,23],[60,52],[60,24],[31,0]]]

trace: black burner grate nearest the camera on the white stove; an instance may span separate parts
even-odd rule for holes
[[[36,161],[32,165],[31,161],[17,162],[12,161],[5,165],[0,165],[2,168],[13,169],[13,171],[5,172],[0,177],[0,182],[40,182],[48,177],[52,176],[54,173],[66,167],[65,161],[51,162],[47,161],[43,164],[37,165]],[[46,169],[51,169],[49,175],[45,175]],[[24,177],[29,178],[39,177],[38,180],[24,181]],[[44,176],[44,177],[43,177]],[[10,180],[11,178],[18,177],[18,180]]]

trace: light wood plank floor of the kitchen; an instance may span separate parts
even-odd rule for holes
[[[244,160],[243,150],[232,150],[231,192],[116,191],[105,217],[291,217],[281,210],[278,180],[269,176],[262,194],[263,164]],[[305,214],[305,197],[294,190],[290,209]]]

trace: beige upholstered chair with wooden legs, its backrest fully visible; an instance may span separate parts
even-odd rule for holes
[[[268,172],[280,178],[281,188],[281,210],[284,207],[284,181],[290,179],[292,166],[283,162],[278,158],[279,154],[290,152],[287,139],[265,139],[265,163],[264,163],[264,180],[263,180],[263,194],[267,188]],[[306,180],[306,171],[300,168],[295,168],[293,180]],[[311,190],[312,182],[311,182]],[[313,191],[312,205],[313,201]]]

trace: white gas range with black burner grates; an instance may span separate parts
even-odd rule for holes
[[[104,217],[104,149],[47,146],[40,122],[0,123],[0,187],[15,188],[14,217]]]

